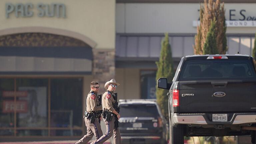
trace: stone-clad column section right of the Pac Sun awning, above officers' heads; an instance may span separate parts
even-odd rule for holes
[[[99,93],[104,93],[104,84],[115,78],[115,49],[93,49],[93,80],[100,86]]]

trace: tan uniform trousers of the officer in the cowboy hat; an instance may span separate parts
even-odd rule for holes
[[[103,142],[108,140],[112,136],[112,134],[114,136],[114,144],[121,144],[120,130],[119,128],[115,128],[115,117],[113,117],[111,121],[106,121],[106,119],[103,120],[106,124],[106,133],[91,144],[102,144]]]

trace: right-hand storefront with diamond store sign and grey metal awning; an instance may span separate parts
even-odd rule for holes
[[[203,0],[201,0],[203,2]],[[256,32],[256,3],[224,0],[227,54],[251,55]],[[169,33],[174,69],[193,55],[198,0],[117,0],[116,77],[124,98],[155,98],[156,64],[164,33]],[[154,83],[154,84],[152,84]]]

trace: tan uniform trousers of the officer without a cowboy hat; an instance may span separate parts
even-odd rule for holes
[[[87,118],[85,118],[84,121],[87,134],[84,135],[84,137],[75,144],[87,144],[92,139],[93,135],[95,135],[96,140],[98,140],[103,135],[98,119],[95,119],[94,123],[90,123],[90,120]]]

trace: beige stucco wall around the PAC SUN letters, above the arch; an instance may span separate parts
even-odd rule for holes
[[[5,4],[32,3],[34,12],[32,17],[15,17],[15,12],[9,18],[5,16]],[[37,4],[62,3],[66,6],[66,18],[38,17]],[[76,38],[87,37],[94,42],[93,47],[97,49],[115,48],[115,0],[1,0],[0,1],[0,35],[6,34],[6,30],[11,33],[24,32],[33,29],[33,32],[55,33],[65,30],[64,35],[69,36],[76,33]],[[4,31],[5,30],[5,31]],[[74,34],[73,34],[74,35]],[[72,35],[71,35],[72,37]],[[82,38],[80,38],[82,39]]]

